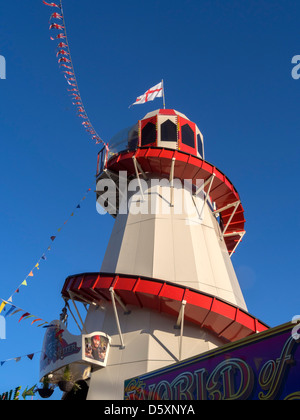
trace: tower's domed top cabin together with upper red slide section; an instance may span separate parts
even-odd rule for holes
[[[205,160],[203,135],[195,123],[178,111],[160,109],[122,130],[109,144],[110,149],[103,148],[98,155],[97,182],[110,178],[118,185],[120,171],[127,172],[128,182],[150,176],[191,180],[194,195],[203,191],[211,204],[232,256],[246,233],[244,208],[229,178]],[[97,200],[101,204],[99,191]],[[117,201],[110,214],[118,211]]]

